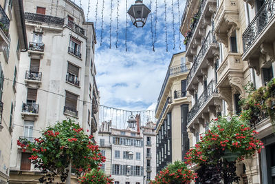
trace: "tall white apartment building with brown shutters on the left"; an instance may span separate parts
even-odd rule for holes
[[[29,43],[19,63],[10,183],[41,177],[33,175],[31,153],[21,152],[17,139],[34,141],[47,126],[67,118],[94,134],[98,119],[94,23],[69,0],[25,0],[24,10]]]

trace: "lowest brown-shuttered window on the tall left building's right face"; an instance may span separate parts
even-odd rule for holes
[[[64,113],[78,116],[77,109],[78,96],[66,91]]]

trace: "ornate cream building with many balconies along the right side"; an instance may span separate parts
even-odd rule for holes
[[[244,85],[252,82],[258,89],[274,78],[274,7],[273,0],[186,2],[180,30],[192,65],[187,77],[192,95],[190,146],[208,130],[211,119],[241,112],[238,102],[248,95]],[[265,149],[236,165],[240,183],[274,183],[275,137],[270,119],[259,118],[253,128]]]

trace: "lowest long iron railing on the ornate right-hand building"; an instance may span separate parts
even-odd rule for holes
[[[215,79],[212,79],[210,83],[207,85],[207,88],[203,90],[201,96],[199,96],[199,99],[197,99],[197,102],[195,105],[192,106],[191,110],[187,114],[187,122],[190,123],[193,117],[201,110],[202,106],[206,104],[206,101],[212,96],[212,94],[217,94],[216,89],[216,83],[217,81]]]

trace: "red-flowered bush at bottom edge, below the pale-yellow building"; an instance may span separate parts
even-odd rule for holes
[[[151,181],[151,184],[155,183],[169,183],[180,184],[190,183],[197,178],[196,174],[191,170],[188,170],[186,164],[182,161],[175,161],[169,164],[162,171],[155,176],[155,181]]]

